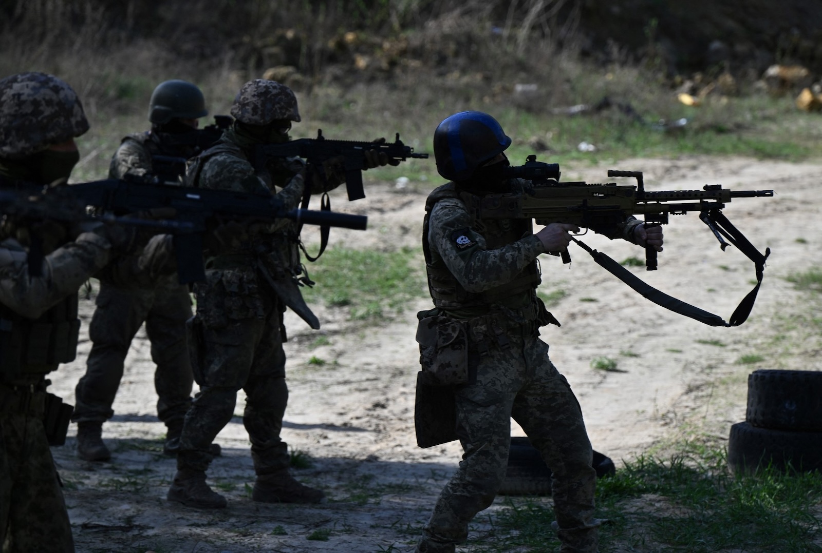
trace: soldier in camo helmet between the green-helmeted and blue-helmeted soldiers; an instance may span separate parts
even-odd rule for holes
[[[340,167],[318,167],[325,173],[318,178],[300,158],[270,159],[265,170],[254,170],[256,144],[288,140],[292,122],[300,121],[297,98],[288,87],[252,80],[240,89],[231,114],[232,128],[189,165],[187,185],[275,194],[290,209],[298,207],[307,181],[313,192],[323,192],[344,180]],[[370,167],[387,162],[375,152],[364,155]],[[252,500],[316,503],[325,496],[289,474],[288,446],[279,436],[289,395],[283,314],[287,305],[305,307],[298,279],[307,281],[307,275],[300,261],[298,226],[289,220],[243,227],[236,235],[212,240],[205,282],[195,286],[196,316],[188,335],[200,392],[182,427],[169,500],[205,509],[226,505],[205,482],[211,461],[208,446],[231,420],[240,389],[247,395],[242,420],[256,472]]]

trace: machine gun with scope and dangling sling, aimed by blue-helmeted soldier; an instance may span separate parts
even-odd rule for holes
[[[532,218],[540,225],[554,222],[571,223],[593,231],[612,235],[613,230],[625,223],[632,215],[644,217],[647,226],[667,224],[669,216],[688,212],[699,212],[704,222],[719,240],[723,251],[728,242],[741,249],[743,254],[755,264],[757,284],[733,313],[731,322],[724,322],[717,315],[704,312],[678,299],[664,295],[640,281],[619,263],[605,254],[590,249],[580,240],[573,239],[608,271],[625,281],[628,286],[639,291],[653,302],[695,318],[712,326],[737,326],[745,322],[762,282],[762,272],[770,249],[765,254],[755,249],[722,213],[727,203],[734,198],[772,197],[774,190],[728,190],[721,185],[705,185],[703,190],[645,190],[642,171],[608,171],[609,177],[630,177],[636,185],[616,183],[589,184],[587,182],[561,182],[560,170],[556,163],[538,162],[531,155],[520,167],[507,167],[506,176],[530,181],[522,194],[488,194],[475,196],[475,204],[469,206],[477,217],[483,218]],[[727,242],[726,242],[727,239]],[[657,268],[657,251],[653,247],[645,249],[646,268]],[[562,253],[564,263],[570,263],[567,250]]]

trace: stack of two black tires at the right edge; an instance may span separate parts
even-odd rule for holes
[[[737,473],[822,470],[822,372],[751,372],[745,422],[731,427],[727,462]]]

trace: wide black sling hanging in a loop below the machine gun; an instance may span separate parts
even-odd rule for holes
[[[639,292],[645,299],[653,301],[654,304],[661,305],[663,308],[669,309],[674,313],[685,315],[686,317],[703,322],[711,327],[738,327],[746,321],[748,315],[750,314],[750,310],[754,307],[756,295],[759,293],[760,285],[762,284],[764,263],[770,255],[770,249],[766,248],[765,254],[760,254],[760,252],[750,244],[750,241],[748,241],[746,237],[743,236],[741,232],[727,220],[727,217],[725,217],[720,210],[714,209],[705,215],[706,217],[709,217],[710,221],[717,226],[718,230],[732,243],[732,245],[737,246],[743,254],[746,254],[747,258],[754,262],[756,268],[756,286],[754,286],[753,290],[748,292],[745,298],[742,299],[740,304],[734,310],[731,315],[730,322],[725,322],[723,318],[718,315],[704,311],[694,305],[686,304],[684,301],[681,301],[681,299],[674,298],[660,290],[657,290],[653,286],[650,286],[648,283],[642,281],[638,276],[635,276],[632,272],[628,271],[625,267],[622,267],[612,258],[609,258],[606,254],[598,252],[596,249],[589,248],[588,245],[583,244],[580,240],[576,240],[573,237],[571,240],[574,240],[582,249],[591,254],[593,260],[601,267],[605,268],[612,275],[617,276],[617,278],[621,281],[625,282],[628,286]]]

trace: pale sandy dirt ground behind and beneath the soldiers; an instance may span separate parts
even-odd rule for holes
[[[570,249],[570,267],[559,258],[541,258],[542,290],[566,293],[552,307],[562,327],[544,330],[543,339],[551,344],[553,362],[580,400],[594,449],[618,467],[622,459],[664,444],[689,424],[727,436],[730,425],[744,419],[746,375],[755,368],[822,368],[818,342],[785,354],[774,350],[768,338],[775,322],[800,309],[803,301],[785,276],[820,260],[822,164],[635,159],[618,167],[566,166],[563,180],[601,182],[608,168],[645,171],[649,190],[721,184],[734,190],[776,191],[774,198],[735,199],[725,210],[754,245],[772,250],[760,298],[741,327],[707,327],[651,304],[576,246]],[[367,199],[350,204],[339,191],[335,209],[366,213],[369,230],[335,230],[332,240],[387,251],[417,247],[431,188],[413,182],[403,188],[372,185]],[[622,241],[593,234],[583,240],[617,261],[643,256]],[[630,270],[727,320],[752,287],[752,263],[736,249],[723,252],[694,213],[673,217],[665,240],[657,272]],[[284,440],[314,459],[311,468],[294,471],[297,477],[328,496],[325,503],[310,506],[263,505],[250,499],[254,476],[239,416],[242,393],[238,416],[217,437],[223,456],[215,459],[209,473],[210,483],[228,497],[228,508],[194,510],[165,500],[175,462],[161,452],[165,427],[156,418],[154,365],[141,331],[127,359],[116,414],[104,426],[104,439],[113,450],[111,462],[77,459],[74,425],[67,445],[53,449],[66,482],[77,551],[413,551],[436,495],[461,454],[458,443],[422,450],[414,439],[415,313],[429,305],[430,300],[421,298],[375,327],[346,320],[342,310],[317,307],[320,331],[287,313],[291,396]],[[93,307],[93,301],[81,301],[84,324],[77,360],[53,375],[53,391],[69,403],[85,372]],[[325,337],[322,345],[316,341],[319,336]],[[746,354],[760,354],[764,361],[735,363]],[[308,363],[312,356],[328,363]],[[592,359],[599,356],[617,360],[617,371],[592,368]],[[512,433],[521,435],[521,430],[514,424]],[[490,512],[500,505],[498,498]],[[471,537],[482,537],[491,524],[492,517],[478,517]],[[466,546],[460,551],[469,550]]]

